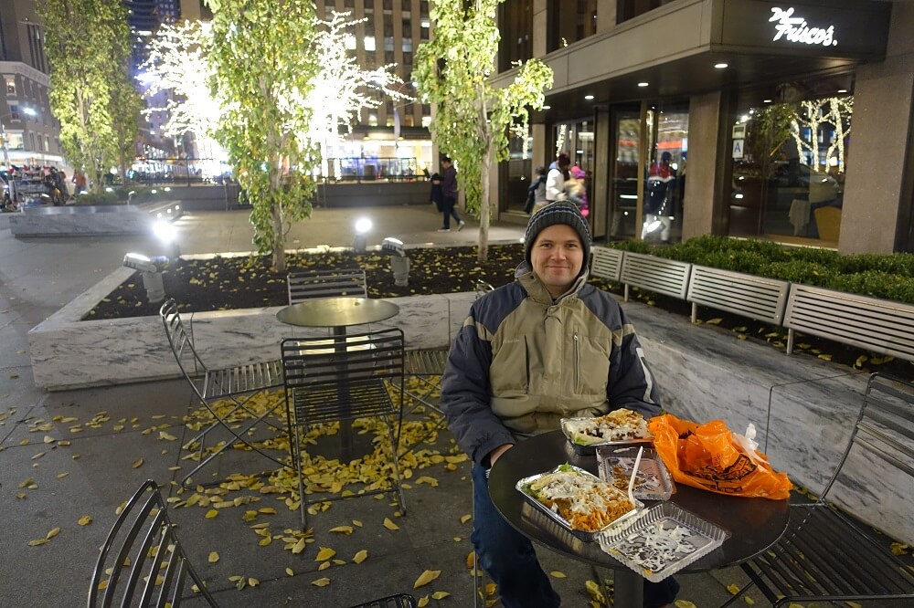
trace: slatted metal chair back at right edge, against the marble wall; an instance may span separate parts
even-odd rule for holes
[[[889,467],[909,483],[914,479],[914,383],[882,372],[870,375],[850,441],[820,502],[841,476],[852,451],[871,474],[878,467]]]

